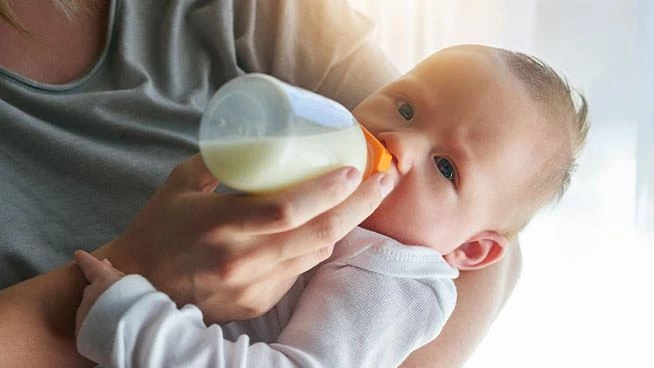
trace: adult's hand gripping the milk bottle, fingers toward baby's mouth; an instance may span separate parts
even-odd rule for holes
[[[144,275],[180,305],[198,305],[206,322],[252,318],[329,257],[393,185],[382,174],[360,181],[341,168],[274,194],[217,194],[218,181],[195,155],[96,255]]]

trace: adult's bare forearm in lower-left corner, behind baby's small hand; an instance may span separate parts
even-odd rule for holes
[[[89,367],[75,348],[85,285],[71,263],[0,290],[0,367]]]

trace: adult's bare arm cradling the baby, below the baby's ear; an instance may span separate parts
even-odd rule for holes
[[[488,332],[515,287],[522,268],[520,244],[486,268],[462,272],[455,280],[457,303],[433,342],[416,350],[402,368],[463,367]]]

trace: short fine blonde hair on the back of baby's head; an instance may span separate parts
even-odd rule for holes
[[[557,203],[565,194],[576,167],[579,153],[586,143],[590,127],[588,104],[582,93],[572,89],[567,80],[542,60],[520,52],[500,50],[509,70],[527,87],[530,97],[554,129],[564,129],[569,141],[548,158],[543,175],[533,179],[528,188],[532,206],[520,216],[507,234],[512,239],[524,229],[542,207]]]

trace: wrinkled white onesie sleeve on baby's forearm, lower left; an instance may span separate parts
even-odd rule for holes
[[[104,367],[299,367],[247,335],[224,339],[192,305],[178,309],[143,277],[112,285],[93,305],[77,338],[78,350]]]

